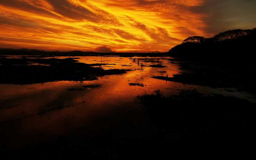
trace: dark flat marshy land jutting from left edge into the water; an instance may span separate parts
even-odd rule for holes
[[[7,59],[0,58],[1,84],[33,84],[53,81],[95,80],[97,76],[123,74],[123,69],[95,68],[106,64],[79,63],[73,58],[66,59]],[[34,65],[34,64],[40,65]],[[113,65],[113,64],[112,64]]]

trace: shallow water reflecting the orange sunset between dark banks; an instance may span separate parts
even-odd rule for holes
[[[11,58],[19,58],[14,56]],[[55,57],[68,58],[68,57]],[[44,84],[0,84],[1,141],[6,145],[26,144],[56,135],[69,134],[81,128],[87,133],[116,128],[118,121],[136,121],[142,116],[138,95],[160,89],[164,95],[177,94],[180,89],[196,88],[206,94],[217,93],[255,101],[244,92],[181,84],[151,78],[183,72],[170,57],[76,57],[79,62],[104,63],[103,69],[131,69],[122,75],[101,76],[93,81],[58,81]],[[156,59],[143,61],[137,59]],[[133,59],[136,59],[135,61]],[[160,62],[159,62],[160,61]],[[143,63],[143,65],[141,65]],[[164,68],[147,67],[161,64]],[[99,66],[96,66],[99,67]],[[130,86],[129,83],[141,83]],[[99,87],[84,87],[100,85]],[[171,104],[170,104],[171,105]]]

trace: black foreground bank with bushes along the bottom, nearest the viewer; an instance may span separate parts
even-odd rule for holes
[[[215,147],[227,153],[255,141],[255,104],[246,100],[204,95],[196,90],[181,90],[173,96],[164,96],[157,90],[138,96],[138,100],[143,105],[138,112],[143,116],[136,122],[121,118],[115,122],[119,127],[97,134],[87,135],[82,128],[22,148],[3,145],[1,149],[9,159],[159,158],[190,153],[194,144],[202,142],[207,143],[203,145],[206,148],[201,146],[196,154]],[[104,121],[104,117],[99,121]],[[193,147],[182,146],[188,143]]]

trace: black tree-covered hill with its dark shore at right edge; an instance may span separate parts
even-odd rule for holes
[[[230,30],[212,38],[189,37],[169,51],[187,71],[173,78],[155,78],[255,93],[255,43],[256,28]]]

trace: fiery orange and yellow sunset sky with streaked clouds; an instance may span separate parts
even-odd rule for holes
[[[0,47],[167,52],[256,27],[256,0],[0,0]]]

